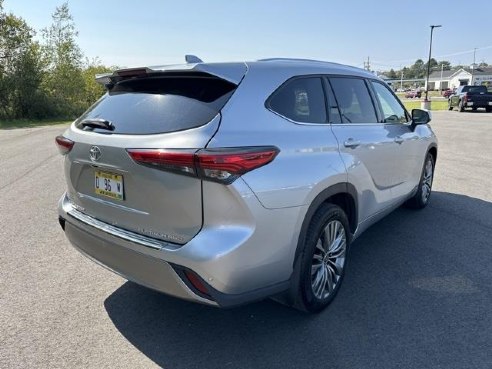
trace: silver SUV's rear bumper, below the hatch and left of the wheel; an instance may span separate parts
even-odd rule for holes
[[[292,209],[284,212],[298,215]],[[67,238],[83,255],[128,280],[181,299],[232,307],[278,294],[290,285],[293,257],[284,256],[282,262],[277,256],[265,264],[264,254],[274,255],[272,249],[256,242],[255,234],[261,237],[262,231],[254,227],[248,234],[223,225],[217,229],[204,226],[188,244],[177,245],[91,218],[78,211],[66,195],[60,199],[59,216]],[[280,243],[277,247],[288,254],[286,246]],[[260,251],[255,253],[255,247]],[[244,253],[255,255],[257,265],[245,260]],[[193,272],[208,293],[201,293],[185,271]]]

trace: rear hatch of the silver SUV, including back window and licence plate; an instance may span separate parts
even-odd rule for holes
[[[116,73],[65,133],[75,142],[65,161],[68,195],[98,220],[184,244],[202,226],[202,184],[179,165],[206,147],[237,83],[196,71],[133,71]],[[172,156],[157,166],[145,162],[148,152]]]

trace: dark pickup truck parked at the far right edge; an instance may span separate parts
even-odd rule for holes
[[[487,91],[485,86],[460,86],[454,95],[451,95],[448,100],[449,110],[458,108],[458,111],[463,112],[465,108],[485,108],[490,113],[492,112],[492,93]]]

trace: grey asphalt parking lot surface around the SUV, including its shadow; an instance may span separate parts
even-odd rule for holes
[[[0,131],[1,368],[491,368],[492,114],[435,112],[434,193],[352,248],[333,304],[231,310],[126,282],[58,225],[63,126]]]

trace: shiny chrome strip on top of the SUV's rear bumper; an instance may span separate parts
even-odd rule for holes
[[[126,241],[130,241],[139,244],[141,246],[151,248],[153,250],[162,250],[162,249],[176,250],[179,248],[179,245],[174,245],[166,241],[161,241],[155,238],[143,236],[141,234],[127,231],[125,229],[112,226],[111,224],[101,222],[100,220],[97,220],[89,215],[81,213],[80,211],[75,209],[68,211],[67,214],[88,226],[94,227],[100,231],[106,232],[110,235],[124,239]]]

